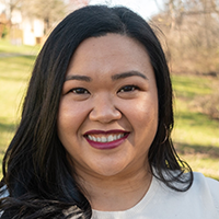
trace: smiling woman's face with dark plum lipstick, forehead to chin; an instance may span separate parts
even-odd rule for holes
[[[58,114],[58,136],[77,173],[124,176],[146,170],[157,127],[155,78],[145,47],[119,34],[82,42]]]

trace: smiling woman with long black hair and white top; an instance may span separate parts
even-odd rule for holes
[[[37,57],[3,160],[1,218],[217,218],[219,184],[180,160],[172,128],[150,26],[126,8],[71,13]]]

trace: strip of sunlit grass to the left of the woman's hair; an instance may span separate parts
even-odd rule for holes
[[[26,54],[33,51],[36,54],[37,48],[0,41],[0,163],[20,119],[20,105],[36,58]]]

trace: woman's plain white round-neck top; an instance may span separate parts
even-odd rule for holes
[[[219,182],[194,173],[187,192],[175,192],[152,178],[145,197],[125,211],[93,210],[92,219],[219,219]]]

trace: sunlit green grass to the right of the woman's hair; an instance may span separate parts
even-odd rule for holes
[[[219,81],[197,76],[173,76],[172,81],[175,148],[194,171],[219,180],[219,123],[194,107],[196,99],[214,92],[212,88],[218,88]]]

